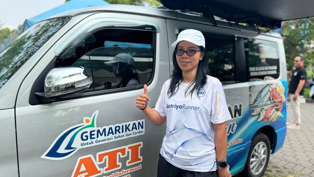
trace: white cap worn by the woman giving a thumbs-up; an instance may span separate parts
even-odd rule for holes
[[[205,48],[205,38],[201,31],[195,29],[185,29],[181,31],[178,35],[176,42],[174,42],[171,47],[176,47],[176,45],[181,41],[189,41],[198,46],[203,46]]]

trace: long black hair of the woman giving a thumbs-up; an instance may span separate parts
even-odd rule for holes
[[[200,89],[202,89],[207,83],[206,75],[209,73],[208,59],[207,59],[205,48],[203,46],[199,46],[199,47],[204,57],[198,63],[195,79],[189,84],[189,86],[184,92],[185,97],[189,94],[192,97],[194,91],[197,91],[198,93]],[[177,48],[178,48],[178,44],[175,50]],[[169,98],[177,93],[179,89],[179,85],[183,82],[182,70],[178,65],[175,51],[173,52],[173,55],[172,55],[172,62],[173,62],[173,71],[171,74],[170,87],[168,89]],[[191,89],[192,86],[193,88]]]

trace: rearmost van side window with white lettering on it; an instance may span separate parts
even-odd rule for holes
[[[247,80],[279,77],[279,52],[276,42],[244,38]]]

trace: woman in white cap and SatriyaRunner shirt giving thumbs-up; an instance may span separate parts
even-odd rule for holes
[[[155,110],[147,105],[146,85],[136,99],[136,107],[151,122],[161,125],[167,120],[157,177],[231,177],[226,168],[226,121],[231,116],[221,83],[206,75],[205,38],[198,30],[186,29],[172,46],[174,70]]]

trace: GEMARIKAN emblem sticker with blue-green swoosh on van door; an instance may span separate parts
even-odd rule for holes
[[[97,116],[98,110],[90,118],[84,117],[83,123],[64,130],[41,158],[62,160],[70,157],[80,148],[110,143],[145,133],[145,119],[97,127]]]

